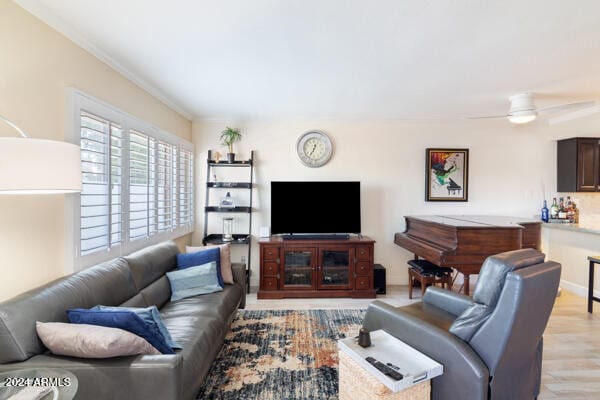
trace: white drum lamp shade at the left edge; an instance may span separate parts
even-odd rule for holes
[[[55,140],[0,138],[0,194],[81,192],[78,146]]]

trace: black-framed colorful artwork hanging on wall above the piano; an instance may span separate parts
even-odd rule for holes
[[[425,162],[426,201],[468,201],[469,149],[429,148]]]

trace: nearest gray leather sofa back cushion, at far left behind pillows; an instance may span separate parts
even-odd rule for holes
[[[69,308],[118,305],[136,294],[129,266],[114,259],[57,279],[0,304],[0,363],[45,351],[35,321],[67,322]]]

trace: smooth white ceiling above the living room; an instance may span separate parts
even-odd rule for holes
[[[16,0],[198,118],[454,119],[600,100],[598,0]]]

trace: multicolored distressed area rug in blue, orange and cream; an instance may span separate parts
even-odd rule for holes
[[[337,340],[364,310],[240,310],[198,399],[337,399]]]

